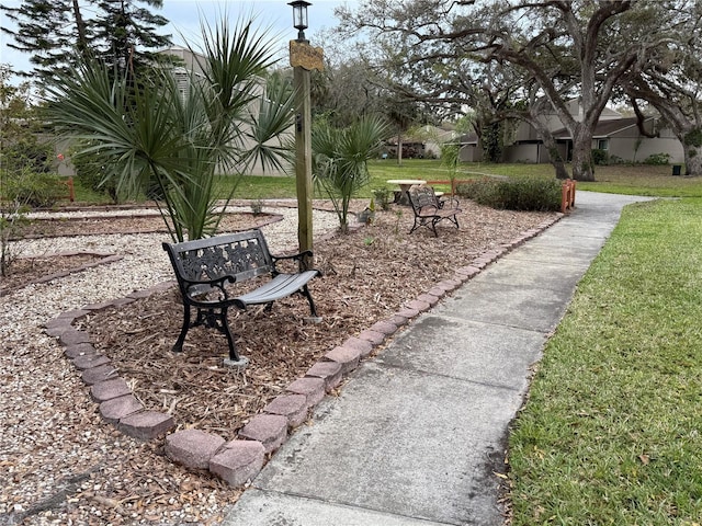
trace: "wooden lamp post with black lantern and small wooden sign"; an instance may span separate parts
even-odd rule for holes
[[[290,65],[293,67],[295,89],[295,176],[297,181],[297,241],[299,251],[313,250],[312,225],[312,103],[309,77],[313,69],[322,69],[320,47],[312,47],[305,38],[308,27],[307,7],[304,0],[290,2],[293,7],[293,26],[297,39],[290,41]],[[304,262],[312,266],[312,261]]]

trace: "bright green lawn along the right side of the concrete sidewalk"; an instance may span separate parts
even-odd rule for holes
[[[509,439],[513,525],[702,518],[702,201],[631,205]]]

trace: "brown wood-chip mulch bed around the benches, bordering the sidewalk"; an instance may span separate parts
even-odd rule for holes
[[[387,211],[376,213],[373,225],[317,243],[316,266],[324,276],[310,290],[324,321],[302,321],[309,313],[302,297],[280,300],[270,312],[233,310],[238,350],[250,359],[242,370],[223,366],[226,339],[213,330],[192,329],[184,352],[171,352],[182,322],[176,288],[89,315],[79,327],[147,409],[171,413],[179,428],[234,439],[253,414],[347,338],[392,317],[455,267],[553,217],[464,208],[460,220],[469,226],[439,227],[438,238],[428,229],[408,236],[409,215]]]

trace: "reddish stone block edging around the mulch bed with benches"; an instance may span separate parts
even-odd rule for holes
[[[273,399],[263,408],[262,413],[254,415],[239,431],[239,439],[226,442],[220,436],[200,430],[183,430],[166,436],[167,456],[186,468],[208,470],[231,485],[241,485],[252,480],[265,464],[267,454],[275,451],[287,439],[288,433],[307,420],[309,410],[339,386],[343,376],[354,370],[375,347],[386,343],[399,328],[430,310],[487,265],[541,233],[562,217],[563,215],[558,215],[553,220],[523,232],[511,242],[483,253],[471,264],[455,268],[453,276],[442,279],[408,301],[395,315],[377,321],[330,350],[303,378],[287,386],[285,393]],[[64,354],[72,361],[84,384],[90,386],[90,395],[99,404],[102,418],[122,433],[141,441],[168,433],[176,426],[176,421],[167,413],[146,410],[117,370],[110,365],[110,358],[99,354],[90,343],[90,335],[73,328],[72,323],[91,311],[121,307],[174,285],[173,281],[163,282],[148,289],[134,291],[125,298],[88,305],[64,312],[45,324],[45,332],[58,338],[58,342],[65,347]]]

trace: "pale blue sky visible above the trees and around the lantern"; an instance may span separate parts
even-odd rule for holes
[[[171,34],[174,45],[183,45],[183,38],[197,47],[200,21],[206,20],[214,25],[222,13],[227,13],[233,21],[244,16],[248,20],[256,16],[257,23],[261,27],[270,27],[271,35],[279,36],[281,47],[287,45],[287,41],[297,37],[297,30],[293,27],[293,8],[287,5],[290,0],[163,0],[161,10],[152,10],[163,15],[170,24],[163,27],[162,34]],[[19,7],[21,0],[5,0],[2,2],[8,7]],[[307,9],[309,18],[309,28],[305,31],[305,36],[315,44],[314,34],[316,31],[337,25],[333,10],[340,5],[356,7],[359,0],[312,0],[312,5]],[[2,20],[0,25],[7,26],[9,21],[4,14],[0,14]],[[30,70],[29,54],[20,53],[8,47],[11,37],[0,33],[0,64],[10,64],[14,70]]]

